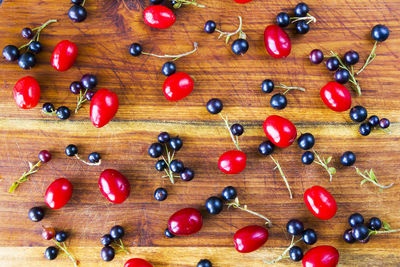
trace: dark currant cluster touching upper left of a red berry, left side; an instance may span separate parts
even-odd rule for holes
[[[69,86],[69,90],[77,96],[75,113],[82,107],[86,101],[91,101],[95,91],[93,90],[97,86],[97,77],[94,74],[87,73],[82,76],[80,81],[74,81]]]

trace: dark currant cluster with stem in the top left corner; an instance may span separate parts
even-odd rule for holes
[[[47,25],[55,22],[57,22],[57,20],[51,19],[40,27],[33,29],[23,28],[21,31],[22,37],[30,39],[30,41],[20,47],[7,45],[3,49],[3,57],[7,61],[15,61],[18,59],[18,65],[24,70],[34,67],[36,64],[35,54],[39,54],[42,51],[42,44],[39,42],[40,33]]]

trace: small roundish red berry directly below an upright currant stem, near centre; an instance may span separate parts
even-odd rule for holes
[[[218,167],[226,174],[237,174],[246,168],[247,156],[239,150],[226,151],[219,157]]]

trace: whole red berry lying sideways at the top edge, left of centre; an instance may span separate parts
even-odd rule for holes
[[[171,9],[162,5],[153,5],[143,11],[144,23],[157,29],[166,29],[171,27],[176,17]]]

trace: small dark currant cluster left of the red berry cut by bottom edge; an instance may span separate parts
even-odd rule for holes
[[[101,237],[100,241],[104,247],[101,249],[100,256],[103,261],[112,261],[115,254],[119,251],[124,251],[129,254],[129,251],[125,248],[124,243],[122,242],[122,237],[124,235],[124,228],[120,225],[116,225],[111,228],[109,234],[105,234]],[[113,246],[118,247],[119,250],[115,251]]]

